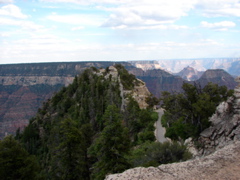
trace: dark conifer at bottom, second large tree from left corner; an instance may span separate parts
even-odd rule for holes
[[[52,177],[65,180],[89,179],[85,161],[85,139],[77,123],[68,118],[63,120],[59,137],[60,144],[52,159]]]

